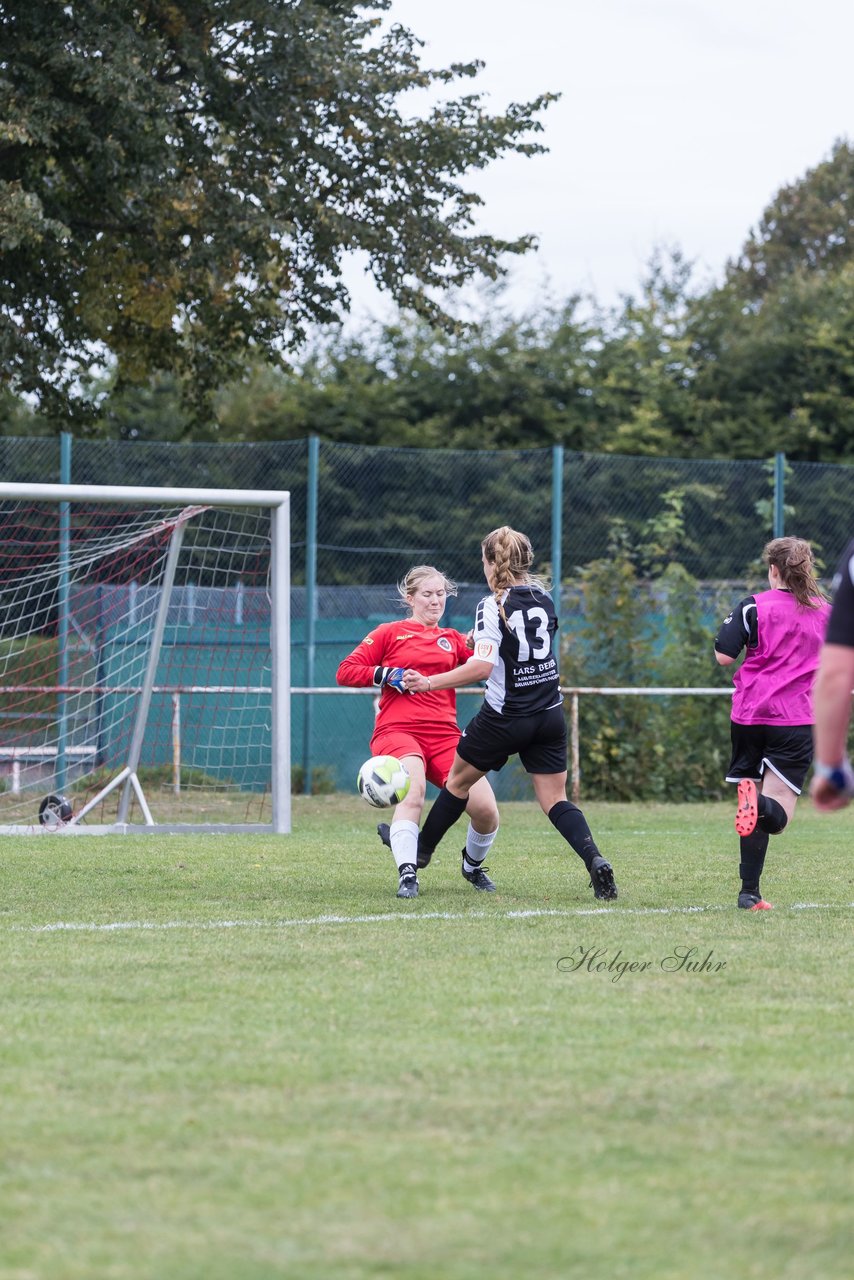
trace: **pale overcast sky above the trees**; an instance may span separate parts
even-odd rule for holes
[[[480,225],[534,233],[507,305],[548,291],[611,306],[638,291],[653,250],[677,246],[720,279],[777,189],[854,140],[854,0],[392,0],[423,61],[481,59],[498,113],[560,92],[549,154],[472,178]],[[383,305],[350,273],[357,310]]]

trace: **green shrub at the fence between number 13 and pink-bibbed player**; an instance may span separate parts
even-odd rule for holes
[[[668,543],[680,556],[685,547],[684,515],[673,492],[639,536],[622,520],[611,521],[607,554],[577,573],[579,598],[561,659],[565,684],[727,685],[729,676],[712,659],[709,636],[709,613],[722,616],[723,607],[681,558],[668,559]],[[609,800],[720,797],[729,714],[729,699],[708,695],[581,698],[584,794]]]

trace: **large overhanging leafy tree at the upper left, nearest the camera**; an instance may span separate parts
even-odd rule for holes
[[[480,95],[405,115],[423,68],[389,0],[27,0],[0,5],[3,380],[82,415],[92,362],[115,387],[178,376],[196,417],[261,356],[346,310],[346,252],[438,325],[430,289],[494,279],[530,237],[475,229],[465,177],[533,155],[552,100]],[[373,10],[373,13],[371,13]]]

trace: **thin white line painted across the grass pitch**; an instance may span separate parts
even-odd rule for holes
[[[830,911],[849,910],[854,902],[793,902],[784,910]],[[529,920],[538,916],[580,915],[697,915],[729,911],[729,906],[581,906],[574,910],[533,909],[520,911],[383,911],[376,915],[310,915],[291,920],[111,920],[105,924],[58,920],[52,924],[12,924],[10,933],[119,933],[140,931],[161,933],[168,929],[303,929],[325,924],[385,924],[397,920]],[[780,908],[777,908],[780,911]],[[763,913],[764,915],[766,913]]]

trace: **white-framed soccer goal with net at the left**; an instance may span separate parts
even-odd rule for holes
[[[289,495],[0,484],[0,833],[291,829]]]

